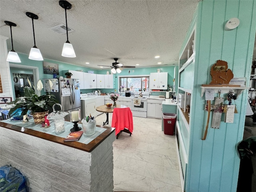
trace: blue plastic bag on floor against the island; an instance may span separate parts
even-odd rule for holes
[[[25,177],[11,166],[0,167],[0,191],[26,192]]]

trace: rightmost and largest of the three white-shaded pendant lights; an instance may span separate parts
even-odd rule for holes
[[[63,45],[63,49],[62,49],[62,56],[63,57],[76,57],[74,48],[72,46],[72,44],[68,41],[68,22],[67,22],[67,9],[71,9],[72,5],[64,0],[60,0],[59,4],[62,8],[65,9],[65,16],[66,16],[66,32],[67,32],[67,41],[66,43],[64,43]]]

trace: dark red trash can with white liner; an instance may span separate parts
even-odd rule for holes
[[[177,115],[175,113],[163,113],[164,134],[173,135],[176,123],[176,116]]]

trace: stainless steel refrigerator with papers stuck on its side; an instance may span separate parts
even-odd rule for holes
[[[64,111],[81,107],[79,79],[44,79],[44,91],[55,95]]]

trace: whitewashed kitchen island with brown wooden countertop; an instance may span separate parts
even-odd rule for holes
[[[98,127],[106,130],[84,144],[1,121],[0,166],[20,170],[31,192],[112,192],[114,128]]]

